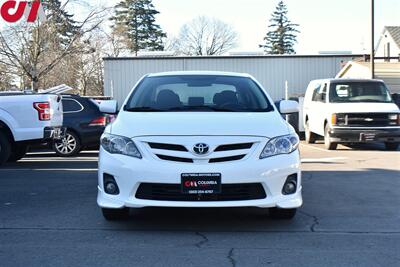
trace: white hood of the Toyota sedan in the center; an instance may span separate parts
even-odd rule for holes
[[[277,112],[121,112],[108,129],[112,134],[138,136],[262,136],[290,133]]]

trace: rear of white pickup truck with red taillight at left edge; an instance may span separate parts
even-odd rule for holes
[[[21,159],[27,147],[62,135],[61,97],[0,93],[0,166]]]

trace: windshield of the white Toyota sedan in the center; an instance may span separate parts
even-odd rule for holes
[[[131,112],[269,112],[273,107],[250,78],[177,75],[145,78],[124,109]]]

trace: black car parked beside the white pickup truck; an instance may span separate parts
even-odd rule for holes
[[[67,128],[65,137],[53,145],[57,155],[70,157],[82,149],[99,148],[100,136],[107,124],[107,116],[100,112],[94,100],[77,95],[64,95],[63,126]]]

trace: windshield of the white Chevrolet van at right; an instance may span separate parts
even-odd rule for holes
[[[381,82],[340,82],[331,84],[331,103],[376,102],[390,103],[392,98]]]

